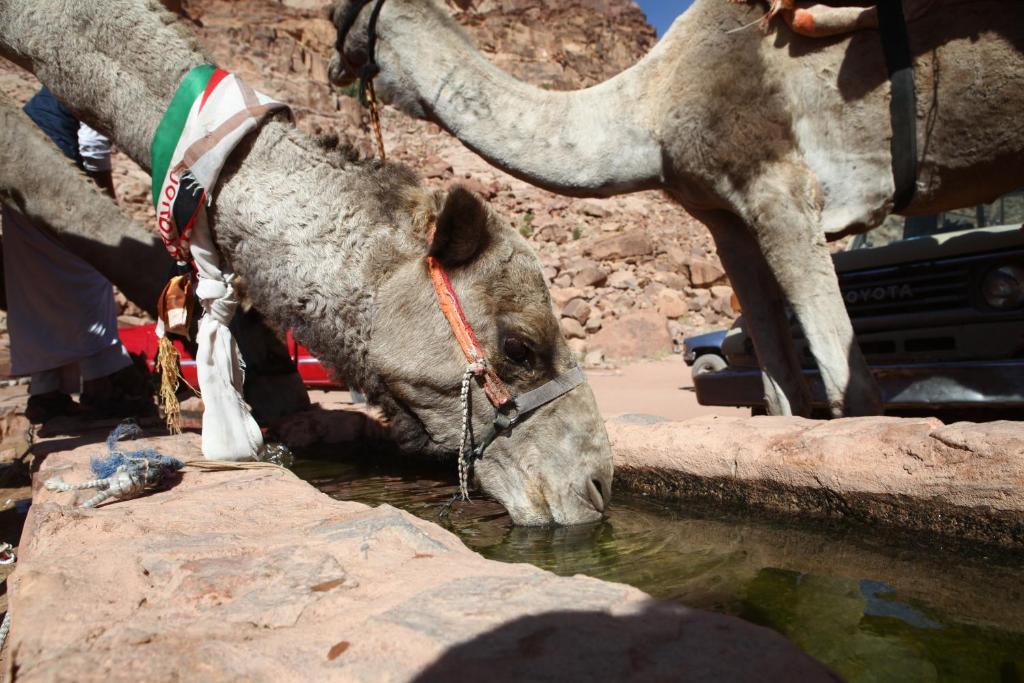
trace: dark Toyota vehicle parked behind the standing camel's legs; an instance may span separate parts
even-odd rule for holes
[[[970,209],[891,217],[833,258],[887,413],[1024,417],[1024,190]],[[823,411],[821,382],[796,322],[793,333]],[[763,410],[742,316],[722,340],[721,355],[721,370],[694,373],[699,402]]]

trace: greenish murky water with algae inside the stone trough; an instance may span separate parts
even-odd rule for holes
[[[863,537],[700,518],[616,494],[608,519],[513,527],[498,504],[456,504],[446,472],[300,460],[325,493],[388,504],[484,557],[636,586],[778,631],[848,681],[1024,681],[1024,567]]]

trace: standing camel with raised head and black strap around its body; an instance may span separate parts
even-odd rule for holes
[[[894,206],[878,31],[820,39],[780,25],[765,34],[755,26],[761,3],[696,0],[634,67],[591,88],[551,92],[484,59],[439,2],[374,4],[381,99],[528,182],[577,197],[659,188],[709,227],[743,305],[770,413],[810,410],[787,307],[833,414],[880,411],[826,246],[828,236],[878,225]],[[970,206],[1021,186],[1024,3],[904,5],[919,175],[901,213]],[[335,4],[336,24],[352,6]],[[332,80],[367,62],[370,14],[358,12],[344,54],[334,54]],[[859,27],[855,17],[843,30]]]

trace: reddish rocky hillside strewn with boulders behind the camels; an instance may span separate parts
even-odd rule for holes
[[[298,125],[375,154],[367,113],[327,83],[334,30],[315,0],[187,0],[188,22],[213,59],[289,102]],[[654,31],[629,0],[459,0],[452,13],[503,69],[542,87],[600,82],[639,59]],[[0,60],[0,91],[31,96],[32,77]],[[659,193],[577,200],[494,169],[432,124],[385,108],[389,157],[437,187],[485,197],[534,244],[572,348],[598,366],[657,356],[686,335],[727,327],[732,290],[707,230]],[[152,223],[148,176],[116,159],[119,204]],[[126,310],[138,316],[137,310]],[[126,321],[130,322],[130,321]]]

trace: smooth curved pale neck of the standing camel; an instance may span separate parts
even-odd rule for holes
[[[354,31],[364,27],[360,22]],[[430,2],[384,3],[378,36],[385,96],[437,122],[512,175],[579,196],[643,189],[660,180],[660,147],[639,105],[658,49],[597,86],[555,92],[489,63]],[[352,39],[364,37],[353,33]]]

